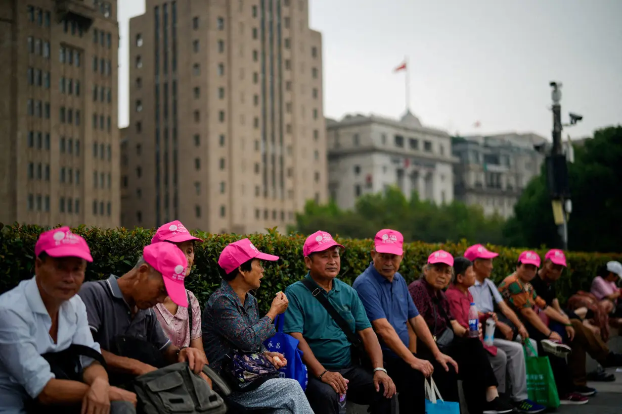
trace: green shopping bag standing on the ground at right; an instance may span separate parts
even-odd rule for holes
[[[531,341],[527,341],[523,351],[527,365],[527,394],[529,394],[529,399],[548,408],[559,407],[559,395],[557,394],[557,385],[555,384],[553,370],[550,367],[549,357],[528,356],[527,347],[533,354],[536,354],[536,351],[531,345]]]

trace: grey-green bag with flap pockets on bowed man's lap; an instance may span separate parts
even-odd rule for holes
[[[225,394],[229,387],[208,366],[203,373]],[[179,362],[152,371],[134,380],[139,412],[144,414],[224,414],[225,402],[202,377],[190,371],[187,362]]]

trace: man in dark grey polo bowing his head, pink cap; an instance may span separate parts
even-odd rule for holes
[[[93,338],[100,343],[109,368],[118,374],[111,381],[124,384],[134,376],[183,361],[199,374],[207,364],[200,350],[170,343],[151,309],[167,296],[180,306],[188,305],[183,286],[187,266],[177,246],[154,243],[144,248],[136,266],[123,276],[88,282],[80,289]]]

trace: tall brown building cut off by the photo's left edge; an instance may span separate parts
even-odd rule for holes
[[[116,6],[0,0],[0,222],[119,225]]]

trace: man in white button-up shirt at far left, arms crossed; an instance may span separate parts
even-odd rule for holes
[[[35,276],[0,295],[0,413],[135,413],[136,395],[111,387],[98,362],[81,360],[80,382],[56,379],[42,356],[72,344],[101,352],[76,295],[93,261],[86,241],[68,227],[49,230],[35,255]]]

